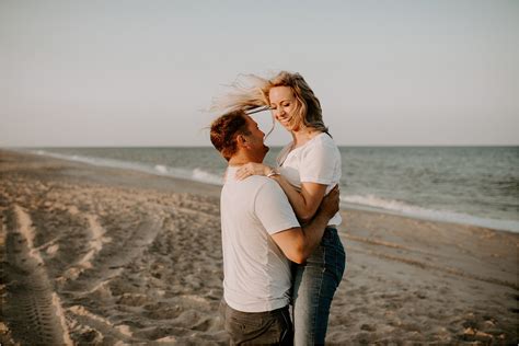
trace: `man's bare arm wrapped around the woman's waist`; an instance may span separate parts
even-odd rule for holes
[[[318,247],[330,219],[339,210],[339,191],[335,186],[323,198],[315,217],[303,228],[291,228],[272,235],[288,260],[304,263]]]

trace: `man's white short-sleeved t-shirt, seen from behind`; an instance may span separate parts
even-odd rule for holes
[[[288,305],[290,264],[270,234],[299,227],[279,185],[265,176],[235,180],[228,168],[221,191],[223,298],[243,312]]]

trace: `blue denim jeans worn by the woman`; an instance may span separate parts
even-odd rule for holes
[[[346,254],[337,230],[327,227],[307,263],[293,265],[293,344],[323,345],[332,299],[343,278]]]

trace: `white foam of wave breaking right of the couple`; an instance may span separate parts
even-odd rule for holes
[[[347,208],[387,211],[417,219],[464,223],[496,230],[519,232],[519,221],[485,219],[449,210],[427,209],[412,206],[400,200],[380,198],[373,195],[342,196],[341,200],[343,201],[342,206]]]

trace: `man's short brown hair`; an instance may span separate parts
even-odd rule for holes
[[[223,114],[211,124],[212,146],[227,161],[238,150],[237,135],[249,135],[246,114],[241,109]]]

